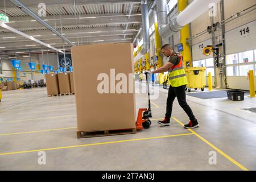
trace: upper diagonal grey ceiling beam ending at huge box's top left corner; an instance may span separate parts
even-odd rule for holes
[[[65,36],[61,35],[60,32],[55,30],[52,26],[50,26],[48,23],[46,23],[42,18],[40,18],[34,11],[30,10],[27,6],[23,5],[22,2],[18,0],[9,0],[10,2],[14,3],[14,5],[18,6],[21,10],[23,10],[28,15],[32,16],[35,20],[37,20],[39,23],[41,23],[44,27],[47,27],[49,30],[54,32],[57,36],[59,36],[61,39],[63,39],[65,42],[69,43],[71,46],[75,46],[70,40],[65,38]]]

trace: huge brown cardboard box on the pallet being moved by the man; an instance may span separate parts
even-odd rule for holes
[[[135,128],[133,48],[130,43],[92,44],[71,48],[76,90],[78,131],[102,131]],[[132,93],[100,93],[99,76],[108,76],[112,86],[115,75],[131,77]],[[113,71],[113,70],[112,70]],[[113,87],[112,87],[113,88]],[[128,86],[127,86],[128,89]],[[115,91],[115,90],[114,90]],[[113,92],[113,90],[112,90]]]

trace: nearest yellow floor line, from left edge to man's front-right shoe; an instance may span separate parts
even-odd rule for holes
[[[28,151],[18,151],[18,152],[6,152],[6,153],[2,153],[2,154],[0,153],[0,155],[23,154],[23,153],[29,153],[29,152],[48,151],[48,150],[59,150],[59,149],[65,149],[65,148],[76,148],[76,147],[86,147],[86,146],[97,146],[97,145],[102,145],[102,144],[134,142],[134,141],[139,141],[139,140],[149,140],[149,139],[169,138],[169,137],[180,137],[180,136],[187,136],[187,135],[193,135],[193,134],[192,134],[192,133],[186,133],[186,134],[176,134],[176,135],[165,135],[165,136],[160,136],[160,137],[148,137],[148,138],[137,138],[137,139],[119,140],[119,141],[113,141],[113,142],[101,142],[101,143],[81,144],[81,145],[78,145],[78,146],[55,147],[55,148],[42,148],[42,149],[38,149],[38,150],[28,150]]]

